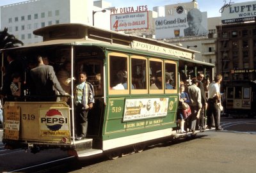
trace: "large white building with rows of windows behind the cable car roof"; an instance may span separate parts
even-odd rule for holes
[[[31,0],[1,6],[1,31],[8,28],[25,45],[42,41],[33,31],[52,24],[81,23],[92,25],[92,11],[95,26],[110,29],[110,11],[93,6],[93,0]]]

